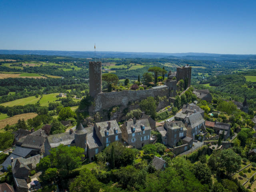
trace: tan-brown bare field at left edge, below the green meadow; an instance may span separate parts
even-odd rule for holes
[[[15,116],[8,117],[6,119],[0,120],[0,132],[3,131],[3,128],[7,124],[13,125],[13,124],[16,124],[19,119],[28,120],[28,119],[34,118],[35,116],[37,116],[36,113],[23,113],[23,114],[18,114],[18,115],[15,115]]]

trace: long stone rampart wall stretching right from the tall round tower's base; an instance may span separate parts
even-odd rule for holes
[[[160,88],[148,89],[148,90],[124,90],[120,92],[109,92],[97,94],[94,97],[93,109],[91,112],[96,113],[102,110],[108,110],[113,106],[128,106],[131,102],[140,101],[152,96],[169,96],[169,87],[160,86]]]

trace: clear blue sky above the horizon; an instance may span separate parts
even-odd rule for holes
[[[0,0],[0,49],[256,54],[256,1]]]

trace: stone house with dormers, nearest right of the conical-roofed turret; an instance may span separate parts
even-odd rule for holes
[[[121,141],[122,138],[122,132],[116,120],[95,123],[94,131],[102,144],[102,149],[112,142]]]

